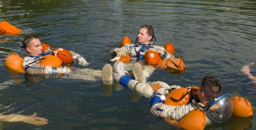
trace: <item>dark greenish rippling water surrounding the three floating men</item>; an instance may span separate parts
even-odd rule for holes
[[[214,75],[221,80],[223,93],[244,96],[256,107],[256,85],[240,71],[255,62],[254,0],[0,0],[0,20],[24,31],[0,37],[13,40],[0,43],[0,112],[36,112],[49,120],[45,126],[2,122],[4,130],[174,129],[151,115],[144,97],[133,102],[136,99],[127,88],[10,73],[4,60],[17,51],[25,34],[37,34],[53,48],[83,55],[90,63],[87,68],[102,69],[113,65],[108,51],[119,46],[123,36],[135,40],[139,27],[150,24],[157,44],[172,42],[175,56],[184,59],[187,70],[180,77],[157,70],[149,82],[190,86],[198,85],[204,75]],[[256,76],[256,66],[251,71]],[[254,130],[253,118],[232,117],[206,129]]]

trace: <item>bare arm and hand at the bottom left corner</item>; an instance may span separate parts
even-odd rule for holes
[[[0,113],[0,122],[25,122],[33,125],[45,125],[48,123],[48,120],[41,117],[37,117],[36,113],[34,113],[31,116],[19,114],[3,115],[3,113]]]

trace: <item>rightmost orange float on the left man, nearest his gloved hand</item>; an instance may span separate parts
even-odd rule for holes
[[[72,54],[64,48],[55,48],[52,53],[54,56],[59,57],[64,64],[69,64],[74,61]]]

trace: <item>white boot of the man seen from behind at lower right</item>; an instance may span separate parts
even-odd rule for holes
[[[125,76],[124,64],[117,60],[113,65],[113,81],[118,83],[122,76]]]

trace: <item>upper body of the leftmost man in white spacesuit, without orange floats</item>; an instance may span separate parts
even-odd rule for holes
[[[22,67],[25,69],[26,73],[29,74],[53,74],[56,73],[70,73],[72,72],[67,66],[61,66],[60,68],[55,68],[51,66],[39,65],[40,58],[45,55],[51,55],[52,49],[49,48],[46,51],[42,51],[41,41],[35,35],[27,35],[23,40],[23,48],[27,51],[26,57],[23,59]],[[79,54],[73,51],[69,51],[72,54],[73,60],[78,62],[79,65],[87,66],[89,63]]]

